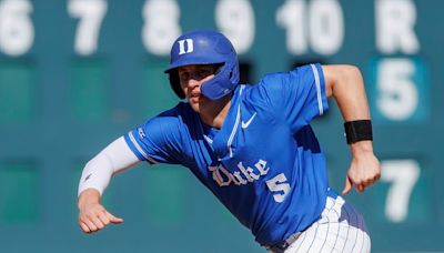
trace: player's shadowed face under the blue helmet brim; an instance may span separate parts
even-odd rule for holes
[[[201,85],[214,78],[216,67],[214,64],[193,64],[178,69],[179,80],[186,100],[194,111],[199,112],[199,105],[209,101],[201,93]]]

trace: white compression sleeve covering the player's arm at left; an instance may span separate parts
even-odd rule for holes
[[[135,165],[139,159],[121,136],[87,163],[79,182],[79,195],[94,189],[101,195],[113,174]]]

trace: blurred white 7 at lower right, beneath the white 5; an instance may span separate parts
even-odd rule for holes
[[[420,178],[420,164],[415,160],[393,160],[381,163],[381,180],[392,182],[385,201],[385,216],[402,222],[408,213],[413,188]]]

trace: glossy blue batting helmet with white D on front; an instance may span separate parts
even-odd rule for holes
[[[178,68],[191,64],[222,64],[213,79],[204,82],[201,92],[211,100],[231,93],[239,83],[238,54],[230,40],[216,31],[192,31],[182,34],[171,48],[170,67],[164,71],[170,75],[174,93],[184,99]]]

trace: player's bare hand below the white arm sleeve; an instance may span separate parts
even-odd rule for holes
[[[93,233],[110,223],[122,222],[122,219],[112,215],[100,204],[100,193],[97,190],[87,189],[80,194],[79,225],[84,233]]]

